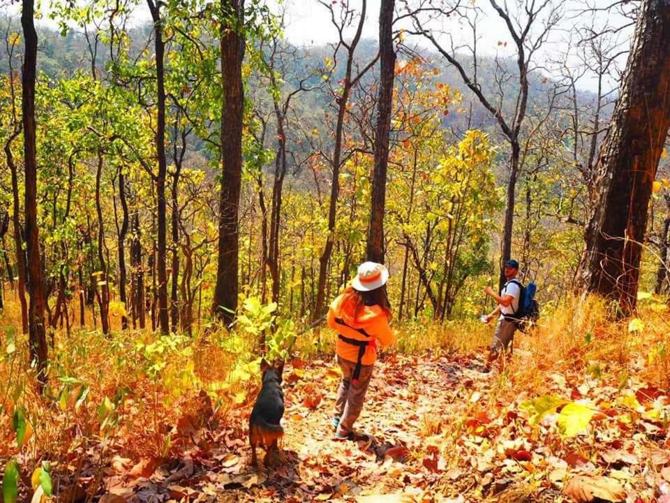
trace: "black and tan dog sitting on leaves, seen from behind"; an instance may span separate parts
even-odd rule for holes
[[[281,392],[281,372],[284,362],[269,365],[265,359],[260,362],[262,387],[249,417],[249,443],[251,444],[251,462],[258,469],[256,446],[265,446],[265,465],[268,464],[271,451],[278,449],[278,440],[284,435],[279,422],[284,414],[284,395]]]

